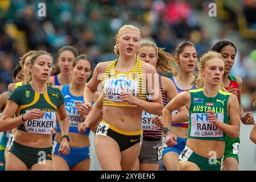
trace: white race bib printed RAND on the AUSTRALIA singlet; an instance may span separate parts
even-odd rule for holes
[[[224,122],[224,114],[216,113],[219,122]],[[223,137],[223,131],[208,121],[207,113],[191,113],[191,137]]]

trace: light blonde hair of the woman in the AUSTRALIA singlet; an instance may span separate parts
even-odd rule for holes
[[[221,56],[220,53],[214,52],[214,51],[208,51],[207,53],[205,53],[203,56],[200,57],[199,70],[204,69],[208,60],[210,60],[214,57],[217,57],[217,58],[221,59],[224,62],[224,58]],[[201,76],[200,71],[197,73],[194,82],[196,83],[197,88],[204,88],[204,82],[205,81],[204,81],[204,77]],[[226,89],[224,88],[224,85],[223,85],[222,81],[221,81],[219,89],[226,92]]]

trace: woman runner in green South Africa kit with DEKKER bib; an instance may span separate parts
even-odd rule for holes
[[[52,130],[59,114],[63,138],[59,152],[68,155],[68,117],[64,96],[47,85],[52,56],[37,51],[31,56],[31,81],[11,94],[0,121],[0,131],[18,127],[6,155],[6,170],[52,170]],[[13,118],[14,114],[17,117]]]

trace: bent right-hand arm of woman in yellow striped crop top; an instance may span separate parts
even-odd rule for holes
[[[141,100],[137,97],[133,97],[131,93],[121,93],[120,97],[122,101],[128,102],[129,104],[134,104],[146,111],[147,113],[162,115],[163,111],[163,101],[162,94],[159,87],[158,73],[156,72],[155,67],[150,64],[143,63],[144,72],[146,73],[147,80],[147,90],[151,94],[152,102],[147,102]]]

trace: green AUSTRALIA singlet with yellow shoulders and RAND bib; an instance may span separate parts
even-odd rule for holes
[[[204,140],[223,140],[225,133],[208,121],[207,110],[216,113],[219,122],[229,123],[227,104],[230,93],[219,91],[216,97],[206,97],[202,89],[189,90],[191,106],[189,109],[188,138]]]

